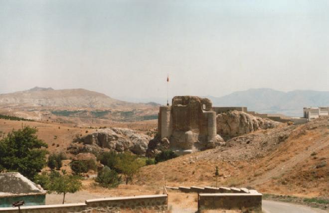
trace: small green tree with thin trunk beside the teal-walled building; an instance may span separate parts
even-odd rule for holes
[[[56,192],[57,194],[63,194],[63,204],[67,193],[75,193],[82,187],[78,176],[67,175],[65,172],[64,175],[57,171],[52,171],[49,175],[41,173],[41,175],[36,176],[36,180],[36,183],[43,184],[44,189],[48,190],[48,193]]]

